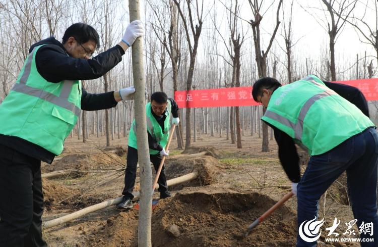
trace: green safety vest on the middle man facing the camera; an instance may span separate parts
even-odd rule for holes
[[[156,121],[155,117],[152,115],[151,103],[146,105],[146,115],[147,115],[147,131],[151,136],[159,142],[159,144],[165,149],[168,142],[169,129],[170,129],[170,112],[171,112],[171,102],[168,100],[168,106],[165,110],[165,121],[164,130],[162,130],[159,123]],[[138,149],[137,146],[137,125],[135,119],[133,120],[132,126],[130,128],[128,145]],[[159,151],[150,149],[150,155],[157,155]]]

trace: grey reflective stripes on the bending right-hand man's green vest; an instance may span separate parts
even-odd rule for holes
[[[324,88],[325,91],[318,93],[316,95],[313,95],[304,103],[304,105],[300,109],[299,116],[298,116],[296,124],[291,122],[289,119],[287,119],[283,116],[280,116],[277,113],[269,111],[269,110],[267,110],[264,114],[264,116],[269,117],[269,118],[271,118],[271,119],[273,119],[277,122],[280,122],[281,124],[291,128],[291,129],[293,129],[294,133],[295,133],[295,138],[299,141],[302,140],[304,118],[306,117],[306,114],[307,114],[308,110],[311,108],[311,106],[315,102],[319,101],[321,98],[337,94],[333,90],[329,89],[328,87],[322,85],[321,83],[316,82],[311,76],[308,76],[308,77],[304,78],[303,80],[312,82],[313,84],[316,84],[317,86]]]

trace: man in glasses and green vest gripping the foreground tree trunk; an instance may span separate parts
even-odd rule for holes
[[[41,232],[41,161],[51,163],[62,152],[81,109],[108,109],[133,97],[133,87],[87,93],[80,80],[111,70],[143,33],[142,23],[134,21],[117,45],[93,58],[99,35],[84,23],[71,25],[62,42],[50,37],[30,47],[0,105],[0,246],[47,246]]]

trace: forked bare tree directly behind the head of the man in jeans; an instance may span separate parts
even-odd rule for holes
[[[280,25],[279,21],[279,13],[280,8],[282,5],[282,0],[279,1],[276,13],[276,26],[274,28],[273,34],[270,38],[268,46],[266,50],[262,50],[261,48],[261,39],[260,39],[260,24],[263,19],[263,16],[260,14],[261,12],[261,5],[263,4],[263,0],[259,3],[258,0],[248,0],[249,6],[253,11],[254,19],[251,19],[249,24],[252,27],[253,35],[254,35],[254,42],[255,42],[255,54],[256,54],[256,63],[259,77],[265,77],[267,75],[267,56],[269,54],[270,48],[272,47],[273,40],[276,36],[278,27]],[[265,113],[266,109],[263,109],[263,113]],[[263,122],[263,146],[262,152],[269,152],[269,139],[268,139],[268,125]]]

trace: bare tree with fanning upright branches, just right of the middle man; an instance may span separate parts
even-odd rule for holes
[[[189,16],[188,23],[186,22],[186,18],[183,13],[183,8],[181,7],[181,4],[177,0],[173,0],[175,5],[177,6],[178,13],[181,17],[182,24],[184,26],[185,35],[186,35],[186,41],[188,44],[188,50],[190,54],[190,65],[189,70],[186,77],[186,90],[189,91],[192,89],[192,82],[193,82],[193,74],[194,74],[194,67],[196,65],[196,57],[197,57],[197,48],[198,48],[198,41],[200,39],[201,31],[202,31],[202,24],[203,24],[203,9],[204,9],[204,1],[202,1],[202,5],[198,4],[198,1],[196,1],[196,16],[193,16],[192,13],[192,1],[191,0],[185,0],[186,2],[186,8],[187,13]],[[195,19],[197,19],[197,24],[195,25]],[[188,27],[189,26],[189,27]],[[193,43],[191,40],[191,34],[189,33],[191,31],[191,34],[193,36]],[[191,109],[186,109],[186,139],[185,139],[185,149],[190,147],[191,145]]]

